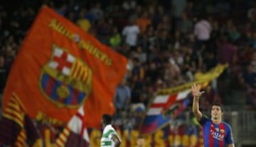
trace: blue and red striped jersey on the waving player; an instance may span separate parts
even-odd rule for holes
[[[224,147],[234,143],[232,129],[229,124],[225,122],[214,124],[205,116],[202,117],[200,124],[203,127],[203,142],[205,147]]]

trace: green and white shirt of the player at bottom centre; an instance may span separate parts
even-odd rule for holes
[[[116,134],[117,132],[114,130],[114,128],[111,126],[111,124],[108,124],[102,133],[102,138],[100,139],[100,146],[101,147],[113,147],[114,141],[112,141],[112,136]]]

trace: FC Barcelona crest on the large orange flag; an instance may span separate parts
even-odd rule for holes
[[[92,70],[68,49],[53,45],[39,84],[41,92],[58,107],[79,107],[92,90]]]

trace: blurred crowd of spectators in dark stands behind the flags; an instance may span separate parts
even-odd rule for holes
[[[240,90],[245,92],[240,99],[246,99],[246,108],[256,110],[256,1],[41,3],[129,59],[127,75],[114,95],[117,124],[129,118],[136,124],[156,90],[193,81],[194,73],[218,63],[228,63],[228,69],[206,88],[202,109]],[[0,6],[0,93],[38,9],[28,5],[10,11]]]

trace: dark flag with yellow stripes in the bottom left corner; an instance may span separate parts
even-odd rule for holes
[[[42,146],[39,131],[15,94],[9,99],[0,122],[0,144],[21,147]]]

